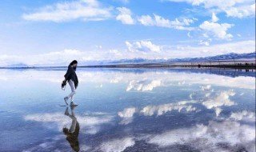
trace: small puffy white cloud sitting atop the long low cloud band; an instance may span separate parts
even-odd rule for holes
[[[131,52],[134,52],[134,51],[160,52],[161,51],[160,46],[157,46],[150,41],[140,41],[140,42],[133,42],[133,43],[126,42],[126,46],[128,50],[130,50]]]

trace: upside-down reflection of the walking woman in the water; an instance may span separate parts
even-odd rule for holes
[[[66,108],[65,115],[69,116],[72,119],[72,124],[70,129],[67,129],[66,126],[63,127],[63,133],[66,135],[66,140],[70,142],[70,146],[74,151],[79,151],[79,142],[78,142],[78,134],[80,130],[80,126],[77,118],[74,116],[74,107],[71,106],[71,114],[69,113],[69,108]]]

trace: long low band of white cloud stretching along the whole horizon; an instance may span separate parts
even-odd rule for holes
[[[245,47],[246,46],[246,47]],[[61,50],[45,54],[12,55],[0,54],[1,66],[25,63],[27,65],[67,66],[74,59],[79,65],[98,64],[101,60],[119,60],[130,58],[196,58],[229,53],[252,53],[255,41],[225,42],[210,46],[158,46],[150,41],[126,42],[127,51],[121,50]],[[159,53],[159,51],[161,53]],[[28,60],[27,58],[30,58]]]

